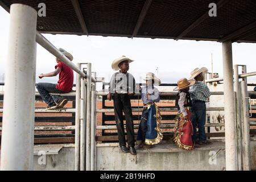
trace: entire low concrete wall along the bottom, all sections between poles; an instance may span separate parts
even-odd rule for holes
[[[225,170],[225,151],[217,152],[216,164],[209,164],[210,150],[143,152],[137,157],[120,154],[118,147],[97,147],[97,170]],[[34,155],[35,170],[73,170],[75,148],[61,148],[59,154]],[[256,169],[256,141],[251,141],[252,169]]]

